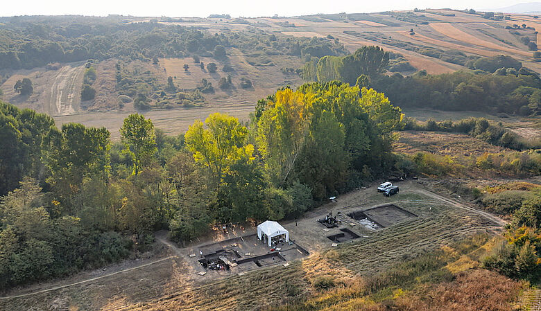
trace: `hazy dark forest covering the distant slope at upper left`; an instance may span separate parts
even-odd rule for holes
[[[243,52],[266,48],[273,55],[341,55],[341,44],[324,38],[276,36],[263,30],[210,34],[157,22],[126,23],[126,17],[1,17],[0,69],[31,69],[54,62],[111,57],[151,62],[159,57]],[[270,39],[273,44],[265,44]]]

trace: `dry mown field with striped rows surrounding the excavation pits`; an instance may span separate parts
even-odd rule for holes
[[[287,287],[307,291],[318,276],[352,280],[371,276],[387,267],[414,258],[430,249],[442,247],[472,233],[489,235],[499,231],[503,222],[492,215],[452,199],[441,197],[406,181],[399,184],[400,194],[383,197],[375,186],[357,190],[311,211],[298,226],[285,223],[290,236],[304,245],[311,256],[296,260],[288,267],[273,265],[243,275],[200,281],[189,274],[189,251],[175,249],[173,258],[100,278],[19,298],[0,299],[6,310],[254,310],[287,301]],[[333,212],[346,214],[380,204],[396,204],[418,217],[407,218],[384,229],[371,231],[344,218],[345,226],[361,238],[332,247],[316,217]],[[253,229],[252,229],[253,230]],[[42,285],[42,289],[55,287]]]

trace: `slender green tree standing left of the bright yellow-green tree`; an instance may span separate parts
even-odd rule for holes
[[[124,152],[131,157],[132,174],[138,175],[153,161],[153,155],[156,152],[154,125],[142,114],[130,114],[124,119],[120,134],[125,146]]]

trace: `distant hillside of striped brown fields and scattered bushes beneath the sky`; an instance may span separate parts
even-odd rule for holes
[[[184,119],[191,121],[191,116],[199,115],[194,111],[205,107],[246,119],[249,109],[243,107],[253,107],[257,100],[279,87],[301,85],[300,68],[310,57],[345,55],[366,45],[395,53],[393,57],[397,58],[388,69],[403,75],[415,70],[449,73],[471,66],[479,57],[499,54],[510,55],[524,67],[541,73],[541,63],[533,57],[536,48],[532,48],[532,42],[534,46],[538,43],[535,29],[541,27],[529,15],[490,17],[482,12],[415,10],[251,19],[55,18],[68,28],[74,27],[70,26],[72,19],[78,18],[89,28],[78,26],[72,33],[58,28],[57,37],[65,37],[60,45],[38,46],[51,37],[32,33],[34,49],[25,51],[20,45],[17,62],[9,58],[14,55],[10,51],[16,50],[0,46],[3,99],[49,113],[60,124],[80,121],[105,125],[113,136],[117,136],[121,120],[138,109],[134,103],[139,93],[145,98],[137,104],[153,109],[149,114],[157,116],[159,127],[175,124],[168,126],[166,132],[176,134],[187,129],[189,122],[184,123]],[[17,31],[24,33],[29,29],[24,26],[28,20],[19,19],[1,19],[0,35],[12,42],[11,46],[22,44]],[[52,17],[31,19],[37,26],[46,27],[52,21]],[[105,38],[110,38],[105,40],[112,42],[79,37],[88,32],[89,38],[103,40],[98,39],[103,29]],[[132,37],[126,37],[123,31],[131,31]],[[202,40],[202,44],[194,40]],[[121,48],[120,44],[129,48]],[[225,58],[214,55],[216,45],[225,46]],[[36,55],[33,61],[24,61],[30,55]],[[194,56],[204,63],[203,69]],[[94,63],[90,65],[97,72],[98,80],[91,86],[96,96],[81,103],[83,61],[88,59],[92,59]],[[210,62],[217,64],[215,73],[206,68]],[[183,69],[184,64],[188,69]],[[15,82],[24,77],[33,80],[32,96],[20,96],[13,91]],[[182,98],[163,92],[168,77],[173,78],[175,91],[185,93]],[[228,77],[231,83],[220,87],[221,80]],[[241,86],[243,78],[250,80],[251,87]],[[212,84],[213,91],[194,94],[194,90],[205,88],[202,79]],[[121,95],[127,97],[120,100]]]

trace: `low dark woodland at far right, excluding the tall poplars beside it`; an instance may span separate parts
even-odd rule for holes
[[[380,76],[371,86],[383,91],[400,107],[431,107],[441,110],[504,112],[522,116],[540,113],[541,80],[527,71],[472,73],[456,71],[441,75]]]

